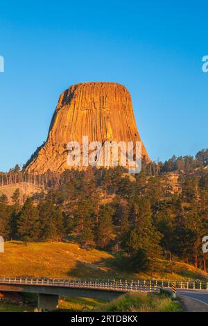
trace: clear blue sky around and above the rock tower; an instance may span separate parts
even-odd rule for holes
[[[46,139],[60,93],[111,81],[132,96],[152,160],[208,146],[207,1],[1,1],[0,170]]]

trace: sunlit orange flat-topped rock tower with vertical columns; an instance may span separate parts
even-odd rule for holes
[[[28,172],[64,171],[69,141],[141,141],[128,90],[116,83],[80,83],[64,91],[53,114],[46,143],[28,161]],[[142,144],[142,155],[150,161]]]

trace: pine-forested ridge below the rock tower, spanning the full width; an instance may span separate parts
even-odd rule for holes
[[[44,191],[20,205],[0,196],[0,234],[6,240],[69,241],[118,253],[135,271],[154,271],[159,258],[180,259],[206,271],[202,237],[208,235],[208,150],[123,167],[28,175],[19,166],[0,173],[0,184],[34,182]],[[170,175],[178,175],[177,188]],[[3,181],[2,181],[3,180]],[[8,183],[7,183],[8,182]],[[40,182],[40,183],[38,183]]]

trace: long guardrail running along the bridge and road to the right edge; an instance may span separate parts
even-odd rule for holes
[[[64,280],[31,277],[0,277],[0,284],[24,284],[37,286],[64,286],[82,289],[105,289],[108,291],[143,291],[159,292],[162,288],[171,288],[174,282],[177,289],[208,290],[208,282],[174,280]]]

